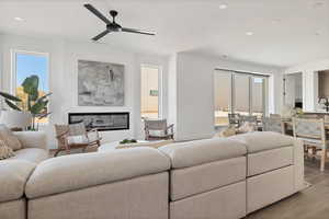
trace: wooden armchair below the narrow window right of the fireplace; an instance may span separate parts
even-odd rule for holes
[[[167,119],[145,119],[146,140],[173,139],[173,124],[167,126]]]

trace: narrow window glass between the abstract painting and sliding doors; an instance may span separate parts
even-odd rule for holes
[[[161,68],[141,65],[140,114],[143,118],[161,117]]]

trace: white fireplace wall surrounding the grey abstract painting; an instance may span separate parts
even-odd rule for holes
[[[1,48],[2,45],[2,48]],[[32,38],[14,35],[2,35],[0,42],[2,57],[1,90],[11,90],[11,49],[42,51],[49,54],[50,124],[43,127],[49,138],[49,148],[56,148],[54,124],[67,123],[69,112],[129,112],[131,129],[104,131],[104,142],[123,138],[140,138],[140,64],[160,65],[163,67],[167,84],[167,58],[121,51],[106,45],[94,43],[76,43],[48,38]],[[151,58],[150,58],[151,57]],[[125,65],[125,106],[123,107],[81,107],[77,104],[78,59],[116,62]],[[163,85],[163,115],[167,116],[167,85]]]

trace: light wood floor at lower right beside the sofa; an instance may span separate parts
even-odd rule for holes
[[[319,171],[318,161],[305,161],[305,178],[310,187],[256,211],[247,219],[329,219],[329,164]]]

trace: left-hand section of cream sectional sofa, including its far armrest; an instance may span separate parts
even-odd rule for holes
[[[0,161],[0,219],[26,218],[25,185],[38,163],[48,159],[47,138],[42,131],[18,131],[22,143],[15,157]]]

